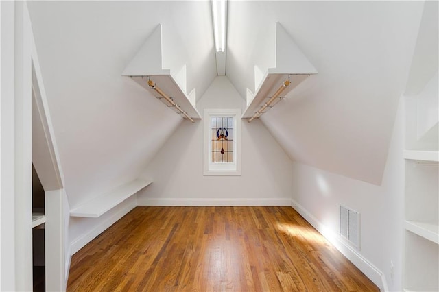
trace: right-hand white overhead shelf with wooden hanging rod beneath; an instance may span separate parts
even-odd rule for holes
[[[265,104],[264,99],[268,101],[286,80],[289,80],[291,84],[285,87],[280,97],[285,97],[307,77],[318,73],[280,23],[276,23],[275,39],[273,53],[276,64],[265,72],[261,71],[259,66],[254,66],[256,90],[252,93],[247,88],[247,106],[242,114],[243,119],[253,117],[255,112]],[[257,117],[259,116],[260,114]]]

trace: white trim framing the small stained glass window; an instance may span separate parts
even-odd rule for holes
[[[211,162],[211,117],[233,117],[233,163]],[[204,175],[241,175],[241,109],[204,109]]]

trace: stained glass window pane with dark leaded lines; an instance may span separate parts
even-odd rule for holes
[[[233,117],[211,117],[211,161],[233,162]]]

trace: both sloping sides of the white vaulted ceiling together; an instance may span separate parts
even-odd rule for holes
[[[216,76],[210,1],[31,1],[71,205],[136,178],[182,119],[121,76],[158,25],[197,99]],[[226,75],[245,98],[279,21],[319,71],[262,121],[293,160],[381,183],[422,2],[229,1]],[[177,48],[177,50],[176,50]],[[175,53],[177,51],[177,53]],[[174,60],[173,60],[174,58]]]

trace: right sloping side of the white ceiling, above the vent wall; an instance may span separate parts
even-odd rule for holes
[[[233,1],[227,72],[239,93],[279,21],[318,70],[261,117],[298,162],[381,184],[423,2]]]

